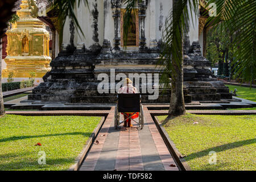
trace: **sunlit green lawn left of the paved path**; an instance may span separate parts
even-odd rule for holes
[[[101,117],[20,116],[0,118],[1,170],[65,170],[75,163]],[[42,146],[35,146],[41,143]],[[39,151],[46,165],[39,165]]]

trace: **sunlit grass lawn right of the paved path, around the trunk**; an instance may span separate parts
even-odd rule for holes
[[[255,122],[256,115],[185,114],[164,128],[192,170],[256,170]],[[216,164],[209,164],[210,151]]]

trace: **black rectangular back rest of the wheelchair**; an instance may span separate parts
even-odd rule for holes
[[[118,94],[118,112],[133,113],[140,111],[139,93],[119,93]]]

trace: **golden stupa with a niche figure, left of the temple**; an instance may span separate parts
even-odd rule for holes
[[[23,0],[21,9],[16,12],[19,20],[7,30],[6,68],[2,77],[8,77],[10,72],[14,78],[42,78],[50,71],[49,63],[49,32],[45,24],[37,19],[38,7],[35,0]]]

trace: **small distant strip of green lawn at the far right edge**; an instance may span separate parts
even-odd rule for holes
[[[226,85],[229,87],[229,90],[234,91],[234,89],[237,89],[237,95],[236,97],[245,98],[250,101],[256,102],[256,88],[249,88],[245,86],[234,86],[234,85]]]

